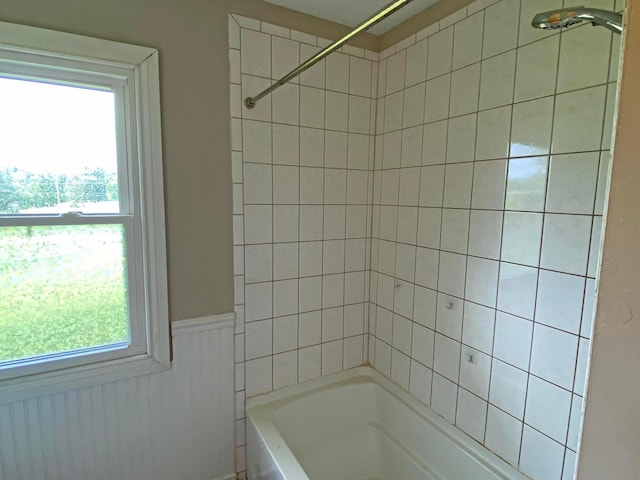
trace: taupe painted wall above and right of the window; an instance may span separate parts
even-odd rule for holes
[[[171,319],[233,310],[228,2],[4,0],[0,20],[160,51]]]

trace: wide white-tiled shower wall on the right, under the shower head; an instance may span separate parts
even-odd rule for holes
[[[620,39],[531,28],[555,7],[380,55],[373,196],[371,363],[540,480],[574,475]]]

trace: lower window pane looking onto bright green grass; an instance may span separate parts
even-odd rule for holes
[[[0,362],[128,342],[122,225],[0,229]]]

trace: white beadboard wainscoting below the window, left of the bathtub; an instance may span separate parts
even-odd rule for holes
[[[0,478],[234,479],[233,325],[173,322],[171,369],[0,405]]]

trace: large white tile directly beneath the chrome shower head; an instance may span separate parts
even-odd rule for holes
[[[606,83],[609,74],[612,35],[606,29],[572,28],[563,32],[560,43],[558,92]],[[576,52],[589,52],[584,65]]]

